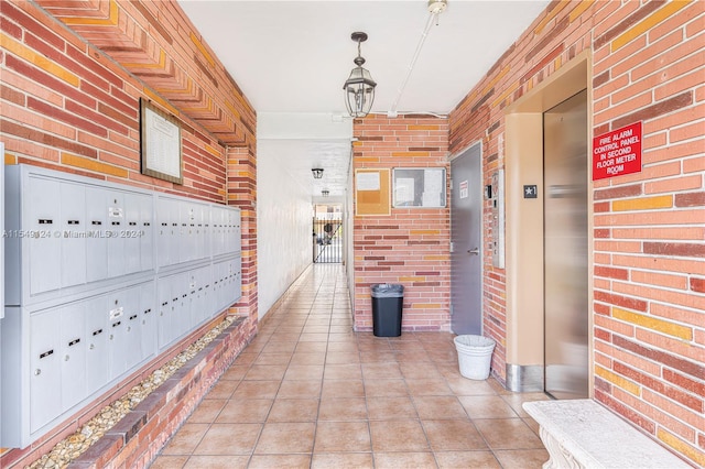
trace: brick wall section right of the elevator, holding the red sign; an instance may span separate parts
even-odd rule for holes
[[[705,6],[615,7],[594,30],[594,133],[643,121],[643,171],[594,184],[595,395],[703,466]]]

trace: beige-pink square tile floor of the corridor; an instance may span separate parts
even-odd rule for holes
[[[460,375],[453,335],[352,332],[341,265],[317,264],[152,468],[540,468],[522,402]]]

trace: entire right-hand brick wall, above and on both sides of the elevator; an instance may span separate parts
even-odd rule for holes
[[[552,2],[449,118],[452,153],[482,139],[489,184],[500,164],[503,109],[589,50],[593,135],[643,121],[643,171],[592,185],[594,392],[699,466],[705,465],[704,11],[699,1]],[[486,259],[486,298],[501,298],[503,274]],[[486,330],[500,343],[505,313],[502,301],[485,303]],[[492,368],[503,374],[503,356],[495,360]]]

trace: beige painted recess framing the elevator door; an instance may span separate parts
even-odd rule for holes
[[[543,366],[544,362],[543,112],[585,88],[588,88],[588,102],[592,102],[589,69],[590,56],[589,51],[586,51],[517,100],[506,111],[507,363],[509,364]],[[588,135],[592,134],[589,114],[590,111],[588,111]],[[538,186],[539,197],[524,199],[523,186],[532,184]],[[592,194],[592,184],[589,187],[588,194]],[[592,220],[592,199],[588,200],[588,219]],[[588,227],[588,231],[592,237],[592,226]],[[592,238],[589,246],[592,246]],[[592,258],[590,252],[589,259]],[[589,269],[592,271],[592,264]],[[590,285],[590,304],[592,297]]]

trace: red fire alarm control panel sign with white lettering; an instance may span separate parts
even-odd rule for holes
[[[641,121],[593,139],[593,181],[641,172]]]

